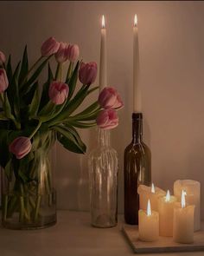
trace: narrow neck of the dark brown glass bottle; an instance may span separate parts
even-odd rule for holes
[[[132,143],[136,144],[143,141],[143,114],[132,114]]]

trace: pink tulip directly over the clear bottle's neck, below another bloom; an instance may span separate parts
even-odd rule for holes
[[[112,129],[118,126],[118,115],[116,110],[112,108],[106,108],[99,112],[96,119],[99,128]]]

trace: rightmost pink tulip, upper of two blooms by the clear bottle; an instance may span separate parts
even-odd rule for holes
[[[99,94],[99,104],[102,108],[122,108],[124,103],[116,89],[105,87]]]

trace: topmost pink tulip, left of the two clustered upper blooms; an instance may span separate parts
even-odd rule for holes
[[[51,56],[58,51],[59,47],[60,47],[60,43],[57,42],[54,37],[49,37],[41,45],[41,56],[43,57]]]

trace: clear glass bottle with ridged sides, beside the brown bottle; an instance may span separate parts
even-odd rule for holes
[[[99,129],[98,146],[88,157],[92,226],[118,222],[118,155],[110,145],[110,131]]]

